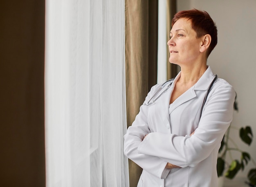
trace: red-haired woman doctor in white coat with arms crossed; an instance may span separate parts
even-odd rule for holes
[[[143,168],[138,187],[216,187],[235,99],[232,86],[207,66],[216,25],[205,11],[180,11],[167,44],[169,62],[181,71],[151,88],[124,136],[124,154]]]

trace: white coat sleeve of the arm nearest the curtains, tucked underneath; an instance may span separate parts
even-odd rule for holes
[[[159,89],[159,86],[160,85],[155,85],[151,88],[146,97],[146,102],[148,102],[148,98],[151,98],[156,90]],[[165,168],[167,161],[164,161],[157,156],[138,153],[137,150],[138,145],[140,145],[144,136],[150,133],[147,122],[147,109],[148,106],[142,105],[140,107],[139,114],[137,114],[135,121],[124,135],[124,154],[150,174],[159,178],[166,178],[170,172],[170,169]]]

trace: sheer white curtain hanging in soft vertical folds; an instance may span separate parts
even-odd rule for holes
[[[128,187],[124,0],[46,0],[47,187]]]

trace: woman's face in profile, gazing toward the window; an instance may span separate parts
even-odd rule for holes
[[[167,42],[170,52],[169,62],[193,65],[200,60],[202,37],[196,37],[190,20],[186,18],[177,20],[171,29],[170,37],[171,39]]]

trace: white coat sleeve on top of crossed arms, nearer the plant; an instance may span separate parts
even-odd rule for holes
[[[220,145],[232,121],[236,95],[232,86],[227,82],[216,83],[210,94],[198,128],[192,136],[153,132],[139,144],[138,152],[159,156],[180,167],[194,167],[207,158],[213,149]]]

